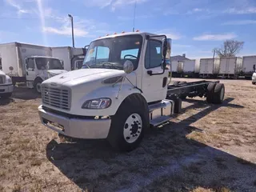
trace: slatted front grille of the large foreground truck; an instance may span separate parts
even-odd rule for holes
[[[62,110],[70,110],[70,89],[42,85],[42,103]]]

